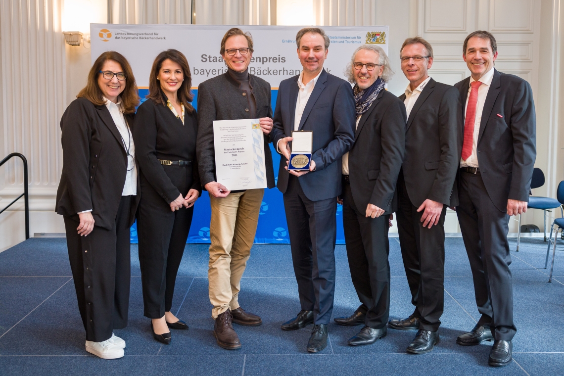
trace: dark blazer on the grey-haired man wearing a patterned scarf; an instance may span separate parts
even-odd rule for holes
[[[352,199],[361,212],[368,204],[394,213],[395,184],[406,152],[406,106],[391,92],[382,90],[356,127],[349,151]]]

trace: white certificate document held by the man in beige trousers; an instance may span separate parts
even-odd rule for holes
[[[266,188],[265,143],[258,119],[213,122],[215,177],[230,191]]]

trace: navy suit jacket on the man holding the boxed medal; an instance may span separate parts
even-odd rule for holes
[[[298,78],[294,76],[280,82],[271,132],[275,148],[280,139],[291,136],[294,130]],[[323,70],[303,109],[298,127],[298,130],[314,132],[312,160],[315,161],[315,171],[298,178],[309,200],[326,200],[341,194],[341,157],[354,143],[355,125],[355,101],[350,83]],[[284,156],[280,157],[277,187],[282,193],[288,187],[286,161]]]

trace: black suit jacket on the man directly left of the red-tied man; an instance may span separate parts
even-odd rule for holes
[[[404,101],[406,95],[399,99]],[[406,126],[403,176],[409,200],[458,205],[455,178],[460,165],[457,132],[464,123],[460,94],[455,87],[429,80],[413,105]]]

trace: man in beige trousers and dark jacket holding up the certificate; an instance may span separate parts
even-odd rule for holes
[[[261,325],[261,317],[239,305],[240,281],[250,256],[257,231],[264,189],[228,191],[215,177],[214,120],[260,118],[265,134],[267,187],[274,187],[272,155],[268,134],[272,130],[270,83],[248,72],[253,56],[250,33],[239,28],[228,30],[220,53],[228,67],[226,73],[204,81],[198,87],[198,138],[196,153],[202,186],[211,205],[209,297],[215,320],[213,335],[220,347],[241,347],[231,325]]]

